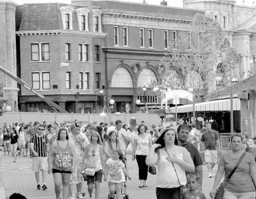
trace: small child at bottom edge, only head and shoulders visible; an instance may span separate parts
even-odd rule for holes
[[[182,193],[181,199],[206,199],[206,195],[198,189],[199,179],[200,175],[196,172],[187,175],[187,185],[189,186],[189,190]]]

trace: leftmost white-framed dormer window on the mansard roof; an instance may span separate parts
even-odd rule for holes
[[[60,8],[64,30],[73,30],[73,24],[72,24],[73,10],[74,9],[70,5]]]

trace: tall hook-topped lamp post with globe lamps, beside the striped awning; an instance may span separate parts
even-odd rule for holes
[[[230,68],[230,133],[234,132],[234,112],[233,112],[233,88],[232,83],[237,83],[237,78],[232,78],[232,65],[229,61],[222,61],[221,64],[229,64]],[[216,75],[216,81],[221,81],[221,75]]]

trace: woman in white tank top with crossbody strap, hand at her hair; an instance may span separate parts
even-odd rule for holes
[[[185,170],[187,172],[195,172],[195,166],[190,153],[184,147],[178,146],[174,129],[164,130],[162,135],[151,147],[146,158],[146,163],[148,166],[153,166],[157,163],[158,166],[156,178],[157,199],[179,199],[181,185],[187,183]]]

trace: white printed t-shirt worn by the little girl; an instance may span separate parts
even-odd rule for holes
[[[112,158],[109,158],[106,161],[106,165],[108,165],[108,181],[111,183],[124,183],[125,182],[125,174],[123,173],[123,168],[125,164],[120,161],[114,161]]]

